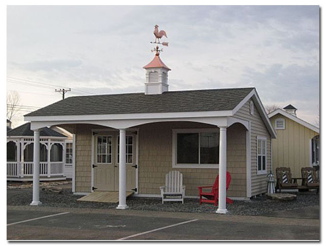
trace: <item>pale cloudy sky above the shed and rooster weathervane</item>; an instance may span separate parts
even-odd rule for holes
[[[23,116],[66,96],[144,92],[154,25],[169,90],[256,87],[318,125],[319,6],[8,6],[7,92]]]

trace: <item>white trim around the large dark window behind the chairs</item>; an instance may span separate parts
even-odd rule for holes
[[[216,132],[219,133],[218,128],[192,128],[192,129],[172,129],[172,168],[210,168],[216,169],[219,168],[219,164],[177,164],[177,133],[201,133],[201,132]],[[200,144],[200,142],[199,142]],[[199,154],[200,159],[200,154]]]

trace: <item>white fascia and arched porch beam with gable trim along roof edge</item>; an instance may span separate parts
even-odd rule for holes
[[[90,114],[90,115],[52,115],[52,116],[24,116],[25,121],[31,121],[31,130],[45,126],[62,124],[95,124],[116,129],[130,128],[137,125],[159,121],[196,121],[215,126],[230,126],[231,118],[249,99],[253,98],[264,124],[272,138],[276,132],[262,106],[259,96],[253,89],[233,110],[194,111],[194,112],[165,112],[165,113],[137,113],[137,114]],[[234,121],[235,122],[235,121]],[[240,122],[247,129],[246,122]]]

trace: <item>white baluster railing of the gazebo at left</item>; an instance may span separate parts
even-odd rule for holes
[[[21,175],[21,164],[22,175]],[[7,162],[7,177],[24,177],[24,176],[33,176],[33,165],[32,161],[29,162]],[[64,175],[64,163],[63,162],[40,162],[40,175],[48,176],[48,165],[50,165],[50,174],[49,176],[59,176]]]

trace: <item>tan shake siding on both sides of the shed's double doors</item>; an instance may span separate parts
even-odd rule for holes
[[[77,125],[76,192],[91,192],[91,142],[95,125]],[[183,174],[186,195],[198,196],[198,186],[212,185],[217,168],[172,168],[172,130],[217,128],[196,122],[157,122],[139,129],[139,194],[159,194],[170,170]],[[227,129],[227,170],[232,180],[228,196],[246,197],[246,128],[234,124]]]

